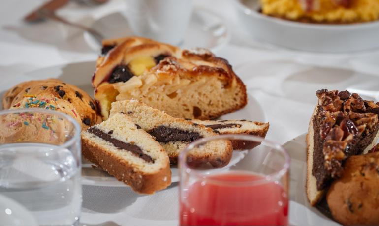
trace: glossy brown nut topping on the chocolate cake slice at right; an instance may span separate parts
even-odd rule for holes
[[[324,139],[324,166],[332,178],[339,178],[350,145],[356,142],[354,138],[368,134],[377,125],[379,105],[348,91],[322,89],[316,96],[320,108],[317,117],[322,120],[320,136]]]

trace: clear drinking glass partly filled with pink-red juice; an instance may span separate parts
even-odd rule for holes
[[[192,153],[221,140],[247,155],[230,168],[190,164]],[[180,225],[288,225],[289,156],[281,145],[250,135],[200,139],[180,154],[179,167]]]

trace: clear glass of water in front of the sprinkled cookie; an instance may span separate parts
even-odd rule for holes
[[[38,225],[78,224],[80,131],[75,119],[57,111],[1,111],[0,196],[25,207]]]

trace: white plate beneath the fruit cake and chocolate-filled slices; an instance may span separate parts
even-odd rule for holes
[[[14,84],[0,85],[0,96],[10,88],[12,85],[21,83],[27,80],[38,80],[47,78],[58,78],[62,81],[78,86],[87,92],[90,96],[93,96],[93,88],[91,85],[92,74],[94,73],[95,62],[78,62],[69,63],[64,65],[58,65],[53,67],[47,67],[39,70],[35,70],[26,73],[22,79],[15,81]],[[234,112],[223,115],[220,119],[247,119],[254,121],[266,121],[265,114],[259,103],[248,93],[248,104],[245,108]],[[0,98],[1,101],[1,98]],[[0,103],[1,106],[1,103]],[[239,162],[246,152],[235,151],[233,153],[232,159],[227,167],[230,167],[237,162]],[[124,183],[116,180],[114,177],[110,176],[106,172],[95,169],[92,167],[93,164],[88,162],[83,162],[82,170],[82,184],[84,185],[94,185],[94,186],[105,186],[105,187],[124,187]],[[225,167],[225,168],[227,168]],[[179,181],[179,174],[177,168],[172,169],[172,182]]]

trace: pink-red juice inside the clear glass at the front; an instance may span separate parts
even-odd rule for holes
[[[287,193],[279,183],[259,175],[215,174],[182,193],[180,225],[288,225]]]

